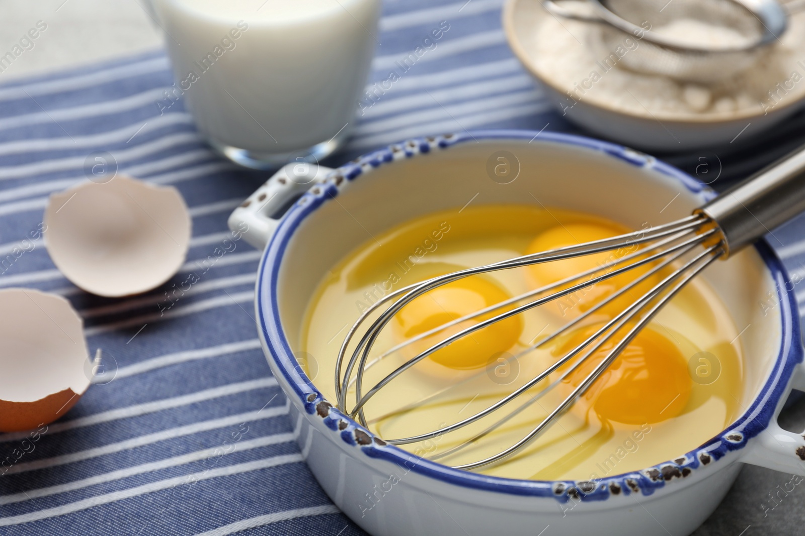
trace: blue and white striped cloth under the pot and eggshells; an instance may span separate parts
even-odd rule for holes
[[[506,47],[501,4],[387,2],[359,124],[349,147],[324,163],[428,133],[572,131]],[[442,21],[449,30],[437,47],[378,90]],[[14,461],[0,478],[0,534],[363,534],[303,464],[287,399],[259,349],[252,312],[259,252],[239,242],[201,264],[228,236],[229,211],[266,176],[217,157],[183,103],[159,115],[155,101],[171,83],[166,56],[155,51],[0,86],[0,286],[68,297],[85,318],[90,350],[102,348],[117,369],[32,450],[29,442],[23,448],[29,434],[0,436],[0,457]],[[710,151],[724,165],[715,186],[799,143],[803,121],[795,117],[761,147]],[[60,275],[41,240],[23,242],[38,228],[47,195],[84,178],[96,151],[112,153],[126,174],[176,186],[191,207],[187,264],[145,296],[89,296]],[[694,170],[700,156],[667,159]],[[805,221],[793,223],[771,239],[798,280],[803,229]],[[165,293],[190,272],[200,282],[160,313]]]

